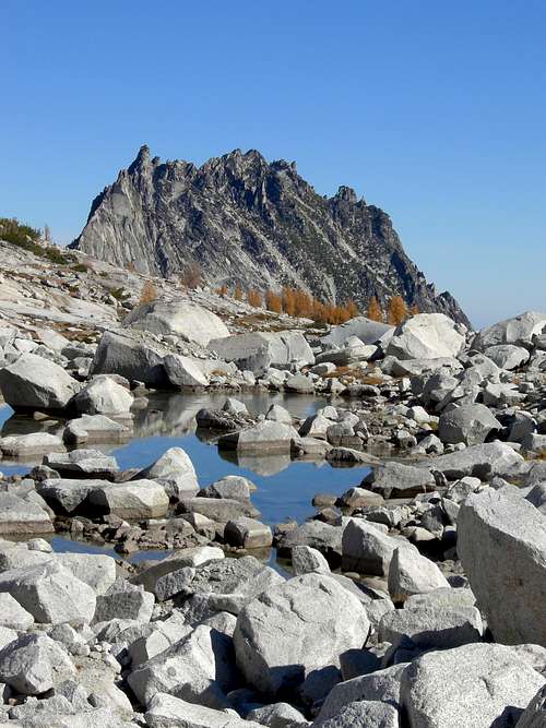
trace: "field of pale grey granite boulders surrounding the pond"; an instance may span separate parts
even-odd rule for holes
[[[0,325],[3,398],[35,418],[0,437],[32,462],[0,478],[0,726],[545,725],[546,315],[248,331],[199,306],[84,344]],[[195,425],[242,462],[369,473],[270,525],[251,480],[200,484],[179,446],[123,469],[99,445],[155,387],[226,390]],[[245,390],[327,402],[254,413]]]

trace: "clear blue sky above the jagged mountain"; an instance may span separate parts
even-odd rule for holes
[[[354,187],[480,326],[546,309],[546,2],[1,0],[0,215],[68,242],[147,143]]]

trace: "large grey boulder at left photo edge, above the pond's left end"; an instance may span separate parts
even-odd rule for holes
[[[0,369],[0,390],[13,409],[64,409],[79,389],[62,367],[34,354]]]

